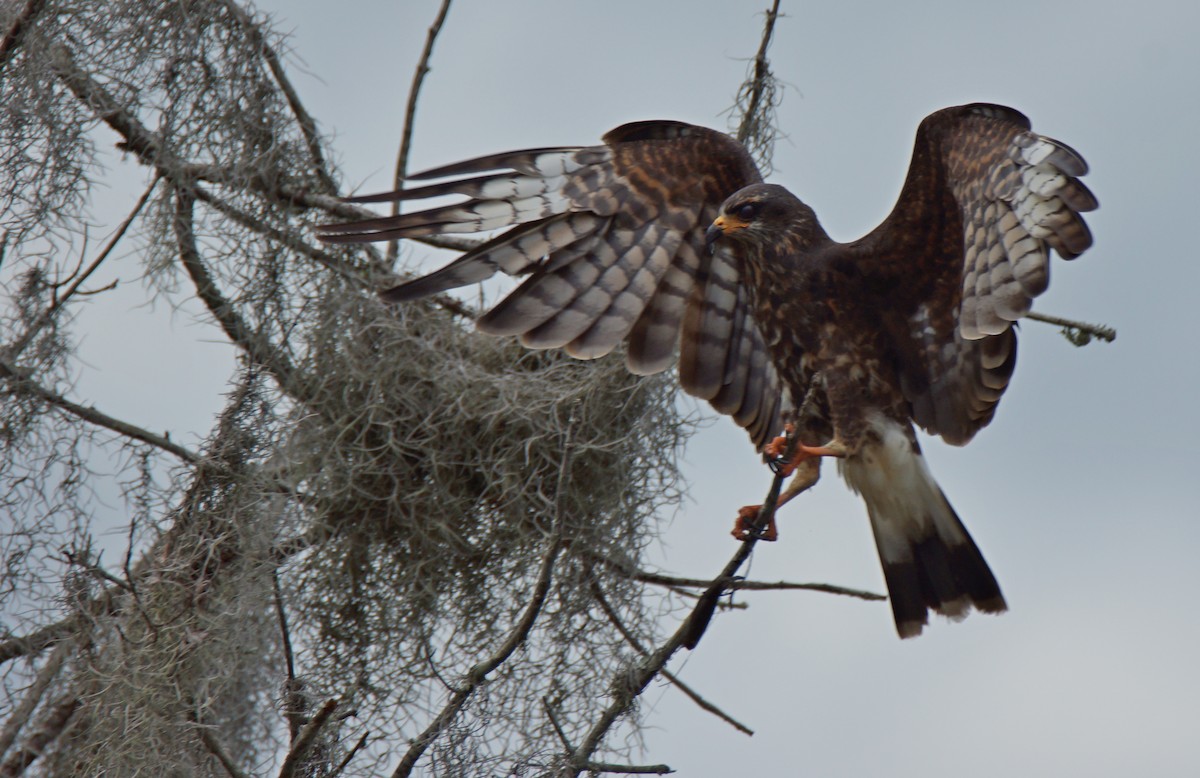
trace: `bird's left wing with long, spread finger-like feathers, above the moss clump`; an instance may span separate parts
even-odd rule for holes
[[[480,330],[530,348],[593,359],[628,341],[635,373],[667,369],[679,351],[683,388],[745,427],[778,432],[781,389],[732,256],[704,247],[726,197],[761,180],[728,136],[676,121],[640,121],[604,144],[479,157],[412,176],[451,179],[355,202],[461,194],[466,202],[346,225],[330,243],[506,232],[449,265],[383,292],[403,301],[482,281],[524,281],[481,316]]]

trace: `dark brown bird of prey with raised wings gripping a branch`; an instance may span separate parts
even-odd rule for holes
[[[725,133],[638,121],[599,145],[479,157],[436,181],[356,202],[466,202],[320,229],[358,243],[510,227],[449,265],[382,293],[404,301],[482,281],[524,281],[478,328],[593,359],[623,341],[635,373],[679,382],[782,466],[788,495],[821,456],[866,503],[901,638],[929,610],[1006,610],[966,527],[934,480],[913,425],[964,444],[995,413],[1016,359],[1013,324],[1049,283],[1049,252],[1092,243],[1086,163],[992,104],[946,108],[917,130],[890,215],[852,243],[763,184]],[[750,534],[743,509],[734,533]],[[768,539],[774,527],[767,528]]]

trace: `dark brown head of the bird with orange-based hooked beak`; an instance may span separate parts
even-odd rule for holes
[[[721,204],[720,214],[704,231],[704,243],[709,249],[722,238],[737,243],[809,243],[805,238],[815,235],[824,237],[824,231],[811,208],[778,184],[752,184]]]

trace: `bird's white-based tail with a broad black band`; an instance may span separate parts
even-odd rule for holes
[[[1008,609],[1000,585],[938,489],[911,427],[886,421],[881,439],[842,462],[846,481],[866,503],[901,638],[914,638],[932,610],[952,620],[971,609]]]

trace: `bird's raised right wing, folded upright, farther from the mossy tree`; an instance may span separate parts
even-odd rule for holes
[[[888,322],[913,418],[966,443],[995,413],[1016,361],[1013,323],[1050,282],[1052,249],[1092,245],[1082,157],[1012,108],[938,110],[917,130],[900,199],[856,244],[910,305]]]

